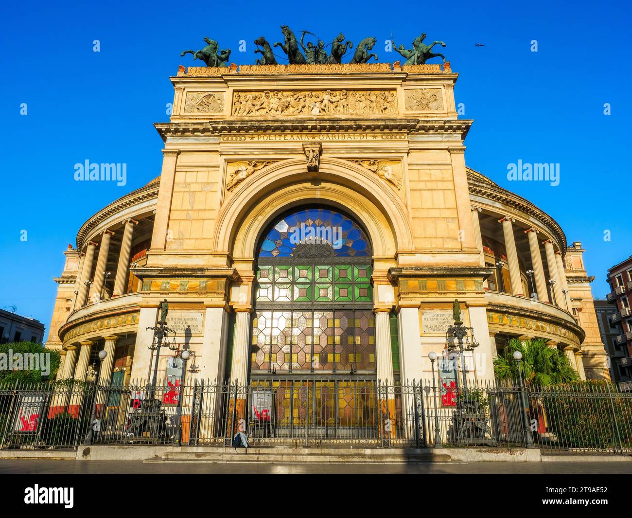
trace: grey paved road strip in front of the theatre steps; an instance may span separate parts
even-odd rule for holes
[[[632,474],[632,462],[446,462],[434,464],[210,464],[119,460],[0,459],[0,474]]]

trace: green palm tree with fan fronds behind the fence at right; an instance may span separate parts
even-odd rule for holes
[[[526,386],[557,385],[580,380],[568,358],[557,348],[549,347],[542,338],[511,338],[502,354],[494,359],[494,374],[497,379],[518,378],[518,362],[513,357],[516,351],[522,353],[520,371]]]

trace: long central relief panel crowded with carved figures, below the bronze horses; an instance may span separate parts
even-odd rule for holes
[[[233,116],[396,115],[395,90],[234,92]]]

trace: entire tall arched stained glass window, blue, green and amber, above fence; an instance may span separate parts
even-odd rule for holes
[[[372,250],[353,218],[327,207],[285,214],[257,257],[250,370],[374,376]]]

